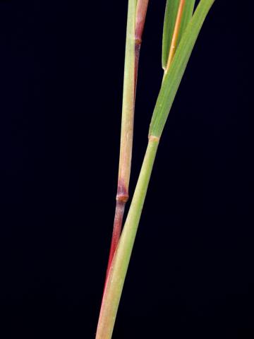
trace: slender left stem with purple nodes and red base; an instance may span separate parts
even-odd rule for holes
[[[131,155],[133,147],[133,122],[135,111],[135,91],[138,78],[138,61],[140,56],[140,45],[142,42],[145,17],[149,0],[130,0],[126,37],[126,64],[124,70],[123,85],[123,112],[121,126],[121,146],[119,159],[119,179],[116,194],[116,210],[114,226],[107,265],[107,275],[111,261],[119,242],[123,224],[123,214],[128,201],[128,186],[131,173]],[[135,11],[134,11],[135,8]]]

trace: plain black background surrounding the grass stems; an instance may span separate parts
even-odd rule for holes
[[[1,338],[94,338],[128,1],[0,4]],[[215,1],[152,172],[114,338],[253,338],[251,1]],[[162,80],[143,36],[130,194]]]

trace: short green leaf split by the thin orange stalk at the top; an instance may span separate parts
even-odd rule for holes
[[[179,11],[180,0],[167,0],[164,25],[163,25],[163,37],[162,37],[162,69],[166,69],[169,60],[169,50],[171,47],[172,38],[174,35],[177,13]],[[178,38],[176,41],[176,47],[181,41],[183,32],[186,30],[188,22],[193,15],[193,9],[195,6],[195,0],[186,0],[181,17],[181,25],[179,29]]]

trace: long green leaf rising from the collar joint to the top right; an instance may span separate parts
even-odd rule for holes
[[[198,38],[202,24],[214,0],[200,0],[191,21],[183,33],[179,47],[172,61],[169,72],[164,78],[159,96],[152,114],[150,136],[160,137],[167,121],[169,111],[174,102],[176,92],[183,78],[183,73],[191,57],[191,52]]]

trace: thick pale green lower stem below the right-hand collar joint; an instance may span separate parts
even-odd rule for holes
[[[96,339],[110,339],[113,333],[123,283],[131,258],[131,251],[138,230],[138,223],[140,221],[158,143],[158,138],[150,137],[131,207],[109,270],[107,285],[102,300],[102,308],[99,314]]]

